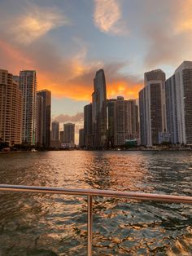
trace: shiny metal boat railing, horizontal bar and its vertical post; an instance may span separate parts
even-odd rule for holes
[[[22,186],[22,185],[7,185],[0,184],[0,192],[30,192],[30,193],[49,193],[62,195],[76,195],[87,196],[87,255],[92,255],[92,241],[93,241],[93,197],[107,196],[126,198],[128,200],[137,201],[159,201],[164,203],[182,203],[192,204],[192,196],[176,196],[176,195],[162,195],[142,192],[121,192],[113,190],[99,190],[99,189],[73,189],[73,188],[48,188],[36,186]]]

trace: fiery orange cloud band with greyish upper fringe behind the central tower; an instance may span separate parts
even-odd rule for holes
[[[0,47],[5,53],[5,57],[9,59],[7,64],[9,72],[19,73],[20,69],[23,68],[37,70],[38,90],[46,88],[51,90],[52,95],[56,97],[91,100],[91,94],[94,90],[93,79],[97,69],[101,68],[100,63],[85,64],[85,60],[83,58],[81,60],[78,55],[71,61],[68,60],[67,64],[60,64],[60,67],[52,70],[52,66],[50,66],[47,67],[48,70],[45,70],[44,63],[39,64],[36,55],[29,58],[25,51],[21,51],[2,40],[0,40]],[[43,53],[41,58],[43,58]],[[51,62],[51,60],[49,61]],[[58,61],[58,63],[60,62]],[[117,95],[124,95],[129,99],[137,98],[137,92],[142,85],[137,85],[137,82],[134,81],[135,77],[129,79],[120,75],[119,69],[122,66],[120,64],[104,65],[104,70],[107,71],[107,96],[112,98]]]

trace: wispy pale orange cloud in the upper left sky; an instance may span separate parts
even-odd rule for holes
[[[7,28],[7,35],[20,44],[30,44],[41,38],[51,29],[69,24],[67,17],[56,7],[39,7],[27,2],[22,14],[5,15],[0,11],[2,24]]]

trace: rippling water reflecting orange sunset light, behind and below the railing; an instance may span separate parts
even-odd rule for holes
[[[191,196],[192,152],[0,154],[0,183]],[[86,255],[86,197],[0,194],[0,255]],[[94,199],[94,255],[192,254],[192,206]]]

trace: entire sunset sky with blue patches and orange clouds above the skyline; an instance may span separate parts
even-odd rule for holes
[[[76,134],[99,68],[108,99],[136,99],[143,73],[192,60],[192,0],[0,0],[0,17],[0,68],[35,69]]]

